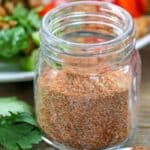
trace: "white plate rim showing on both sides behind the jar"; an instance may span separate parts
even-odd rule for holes
[[[141,49],[150,43],[150,34],[137,40],[136,48]],[[0,63],[1,66],[1,63]],[[15,69],[14,69],[15,70]],[[21,81],[32,81],[34,78],[34,72],[23,72],[23,71],[11,71],[0,72],[0,82],[21,82]]]

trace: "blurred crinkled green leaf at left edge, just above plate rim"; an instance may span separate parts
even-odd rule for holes
[[[28,36],[22,27],[0,31],[0,57],[10,58],[28,47]]]

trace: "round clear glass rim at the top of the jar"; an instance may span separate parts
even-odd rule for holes
[[[110,7],[112,10],[118,11],[118,13],[121,13],[122,19],[125,21],[125,29],[124,32],[120,35],[117,35],[111,40],[108,41],[103,41],[103,42],[97,42],[97,43],[76,43],[68,40],[64,40],[56,35],[54,35],[52,32],[49,31],[48,24],[49,24],[49,16],[54,15],[55,13],[59,12],[60,10],[63,10],[68,7],[80,5],[80,4],[90,4],[90,5],[98,5],[98,6],[105,6],[107,5]],[[117,13],[116,13],[117,14]],[[70,46],[75,46],[75,47],[103,47],[103,46],[111,46],[116,43],[120,43],[120,41],[123,41],[125,38],[128,36],[132,35],[133,33],[133,28],[134,28],[134,23],[132,20],[132,16],[127,12],[125,9],[121,8],[120,6],[114,5],[110,2],[99,2],[99,1],[78,1],[78,2],[69,2],[65,3],[63,5],[59,5],[58,7],[52,9],[49,11],[44,17],[42,21],[42,31],[50,38],[55,41],[59,41],[63,44],[69,44]],[[118,50],[119,51],[119,50]]]

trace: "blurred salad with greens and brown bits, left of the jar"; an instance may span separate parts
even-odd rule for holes
[[[33,70],[39,46],[41,17],[36,8],[39,5],[33,0],[1,1],[0,62],[16,64],[21,70]]]

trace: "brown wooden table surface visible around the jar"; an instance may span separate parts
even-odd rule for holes
[[[141,50],[140,53],[143,69],[138,131],[129,145],[146,145],[150,148],[150,46]],[[33,105],[33,83],[0,83],[0,96],[18,96],[20,99]],[[34,149],[52,150],[52,148],[44,143],[41,143]]]

